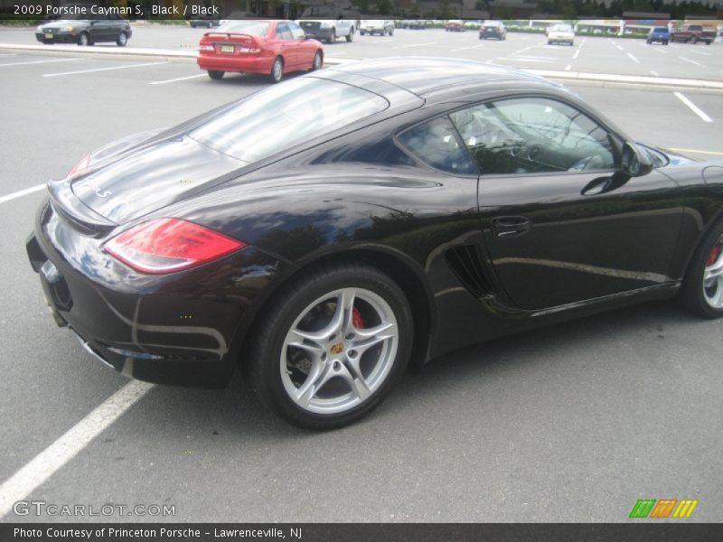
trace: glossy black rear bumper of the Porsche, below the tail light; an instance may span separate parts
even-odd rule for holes
[[[63,247],[59,247],[59,245]],[[244,316],[286,265],[256,248],[170,276],[140,276],[44,207],[26,243],[52,316],[127,377],[218,388],[239,358]]]

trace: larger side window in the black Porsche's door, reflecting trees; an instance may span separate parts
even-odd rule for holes
[[[605,129],[548,98],[510,98],[450,115],[483,175],[611,170]]]

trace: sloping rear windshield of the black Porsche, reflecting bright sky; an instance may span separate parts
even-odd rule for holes
[[[389,102],[368,90],[305,77],[267,89],[192,130],[203,145],[244,162],[379,113]]]

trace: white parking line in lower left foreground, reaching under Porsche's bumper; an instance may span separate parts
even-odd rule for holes
[[[153,384],[138,380],[126,384],[15,472],[0,486],[0,519],[153,388]]]

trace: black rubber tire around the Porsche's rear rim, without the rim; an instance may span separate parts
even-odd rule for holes
[[[289,396],[282,379],[280,360],[286,334],[309,304],[324,294],[351,287],[371,291],[391,308],[399,332],[396,356],[390,359],[386,377],[356,406],[337,413],[311,412]],[[407,298],[389,276],[370,266],[336,264],[320,266],[282,288],[259,316],[250,336],[249,380],[260,401],[291,424],[319,430],[351,424],[380,405],[407,367],[414,328]]]

